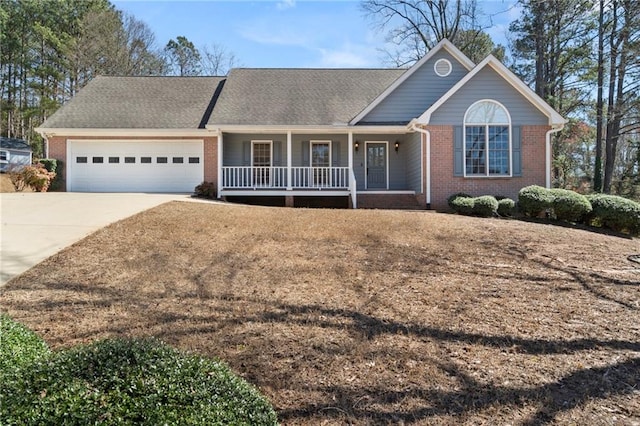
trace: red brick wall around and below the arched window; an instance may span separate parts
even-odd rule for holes
[[[429,126],[431,132],[431,207],[447,210],[447,198],[456,192],[499,195],[517,199],[523,186],[544,186],[545,137],[548,126],[521,126],[522,176],[464,178],[453,176],[453,126]]]

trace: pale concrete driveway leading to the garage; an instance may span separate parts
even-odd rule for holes
[[[0,287],[92,232],[186,194],[0,194]]]

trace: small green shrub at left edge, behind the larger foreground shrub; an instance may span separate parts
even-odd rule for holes
[[[37,334],[8,315],[0,314],[0,383],[21,367],[49,354],[49,347]]]

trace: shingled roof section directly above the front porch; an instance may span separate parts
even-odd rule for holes
[[[399,69],[233,69],[209,125],[346,124]]]

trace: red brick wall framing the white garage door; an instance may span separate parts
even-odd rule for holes
[[[217,182],[218,179],[218,138],[215,136],[199,138],[176,138],[176,137],[124,137],[124,136],[83,136],[67,137],[52,136],[48,138],[49,158],[55,158],[63,162],[61,190],[66,190],[66,167],[67,167],[67,139],[71,140],[204,140],[204,180],[207,182]],[[59,171],[60,172],[60,171]]]

